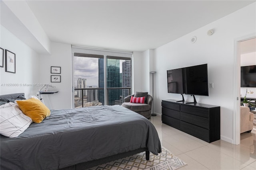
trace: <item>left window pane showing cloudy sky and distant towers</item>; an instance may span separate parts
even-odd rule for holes
[[[101,59],[104,59],[103,55],[74,53],[75,108],[104,105],[104,84],[100,82]]]

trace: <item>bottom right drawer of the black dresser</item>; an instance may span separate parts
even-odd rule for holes
[[[210,143],[209,130],[180,121],[180,130]]]

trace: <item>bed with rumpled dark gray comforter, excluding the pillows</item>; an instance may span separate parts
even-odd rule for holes
[[[144,151],[147,160],[149,152],[161,152],[157,131],[148,119],[129,109],[51,110],[49,117],[30,124],[18,137],[0,135],[0,169],[86,169]]]

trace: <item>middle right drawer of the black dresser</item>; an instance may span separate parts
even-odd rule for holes
[[[205,129],[209,129],[209,119],[204,118],[204,117],[181,112],[180,120],[185,121],[190,124],[193,124],[193,125],[196,125],[196,126],[199,126],[199,127],[203,127]]]

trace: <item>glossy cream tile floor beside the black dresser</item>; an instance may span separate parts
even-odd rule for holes
[[[240,145],[226,141],[207,143],[161,121],[157,115],[149,119],[162,146],[187,163],[178,170],[256,170],[256,126],[251,133],[241,134]]]

